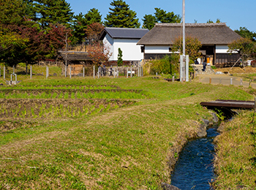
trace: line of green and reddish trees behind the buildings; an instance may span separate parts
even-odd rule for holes
[[[55,59],[66,45],[66,36],[71,45],[97,42],[104,27],[151,29],[154,23],[181,23],[180,15],[155,8],[140,26],[137,13],[123,0],[113,0],[109,9],[103,21],[96,8],[74,15],[65,0],[0,0],[0,62],[12,66]],[[236,32],[255,42],[255,33],[247,28]]]

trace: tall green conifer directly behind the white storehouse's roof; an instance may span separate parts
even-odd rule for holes
[[[137,13],[129,9],[129,5],[123,0],[114,0],[110,3],[114,8],[109,8],[110,12],[105,18],[105,26],[118,28],[139,28]]]

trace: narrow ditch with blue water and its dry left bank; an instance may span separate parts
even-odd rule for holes
[[[212,118],[202,119],[197,132],[181,137],[170,150],[170,183],[162,183],[163,190],[213,189],[214,138],[222,132],[221,121],[216,113]]]

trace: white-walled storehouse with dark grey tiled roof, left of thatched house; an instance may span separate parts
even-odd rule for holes
[[[122,51],[124,62],[131,64],[143,59],[141,46],[138,41],[148,33],[148,29],[143,28],[104,28],[100,36],[105,48],[110,50],[110,62],[117,62],[118,48]]]

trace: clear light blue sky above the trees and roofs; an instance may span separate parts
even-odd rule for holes
[[[74,12],[85,15],[89,9],[96,8],[105,20],[110,11],[110,3],[113,0],[66,0]],[[140,20],[144,15],[154,15],[154,8],[164,9],[166,12],[174,12],[182,16],[182,0],[124,0],[129,8],[137,13]],[[246,27],[249,31],[256,32],[256,1],[255,0],[186,0],[185,1],[185,22],[206,23],[217,19],[226,23],[231,29]]]

